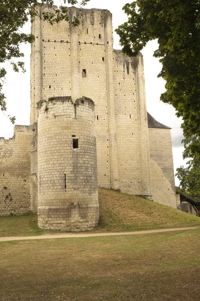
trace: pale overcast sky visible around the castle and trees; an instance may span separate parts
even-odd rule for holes
[[[55,5],[61,5],[59,0],[54,1]],[[127,16],[122,11],[122,7],[127,0],[90,0],[85,8],[107,9],[112,13],[114,49],[121,49],[119,37],[115,34],[114,29],[127,20]],[[30,23],[27,23],[21,30],[30,33]],[[160,94],[165,91],[164,80],[157,78],[161,70],[161,64],[158,59],[153,57],[153,51],[157,47],[156,41],[149,42],[141,51],[144,60],[144,78],[146,89],[146,106],[147,111],[159,122],[171,127],[172,151],[174,173],[176,168],[181,165],[185,166],[182,160],[183,145],[181,144],[182,130],[180,128],[181,118],[175,116],[175,110],[171,105],[164,104],[159,100]],[[7,71],[6,80],[3,85],[3,93],[6,96],[7,114],[16,117],[15,124],[29,125],[30,115],[30,45],[21,45],[20,50],[24,57],[20,60],[25,62],[26,72],[15,73],[12,71],[9,63],[4,67]],[[0,137],[8,139],[13,135],[13,125],[9,119],[0,111]],[[175,178],[175,185],[179,181]]]

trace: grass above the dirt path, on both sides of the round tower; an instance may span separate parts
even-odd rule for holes
[[[146,199],[99,188],[99,225],[92,232],[200,226],[200,218]],[[41,235],[36,215],[0,217],[0,236]]]

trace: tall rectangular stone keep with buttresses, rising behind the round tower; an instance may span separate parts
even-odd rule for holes
[[[51,12],[48,6],[40,8]],[[149,197],[148,124],[143,59],[113,50],[107,10],[68,9],[69,22],[51,26],[35,18],[31,51],[31,115],[49,97],[82,95],[95,104],[98,185]],[[80,25],[72,26],[73,17]]]

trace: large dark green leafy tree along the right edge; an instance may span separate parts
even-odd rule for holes
[[[188,167],[177,169],[180,186],[200,196],[200,1],[136,0],[123,7],[128,21],[116,30],[122,51],[135,56],[157,39],[166,92],[160,100],[172,104],[182,117],[183,158]]]

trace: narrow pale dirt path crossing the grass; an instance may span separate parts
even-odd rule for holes
[[[72,238],[72,237],[93,237],[93,236],[115,236],[115,235],[136,235],[136,234],[150,234],[169,231],[184,231],[199,229],[200,227],[189,228],[172,228],[172,229],[159,229],[159,230],[145,230],[134,232],[110,232],[110,233],[62,233],[62,234],[44,234],[40,236],[16,236],[16,237],[0,237],[0,241],[12,240],[31,240],[31,239],[52,239],[52,238]]]

